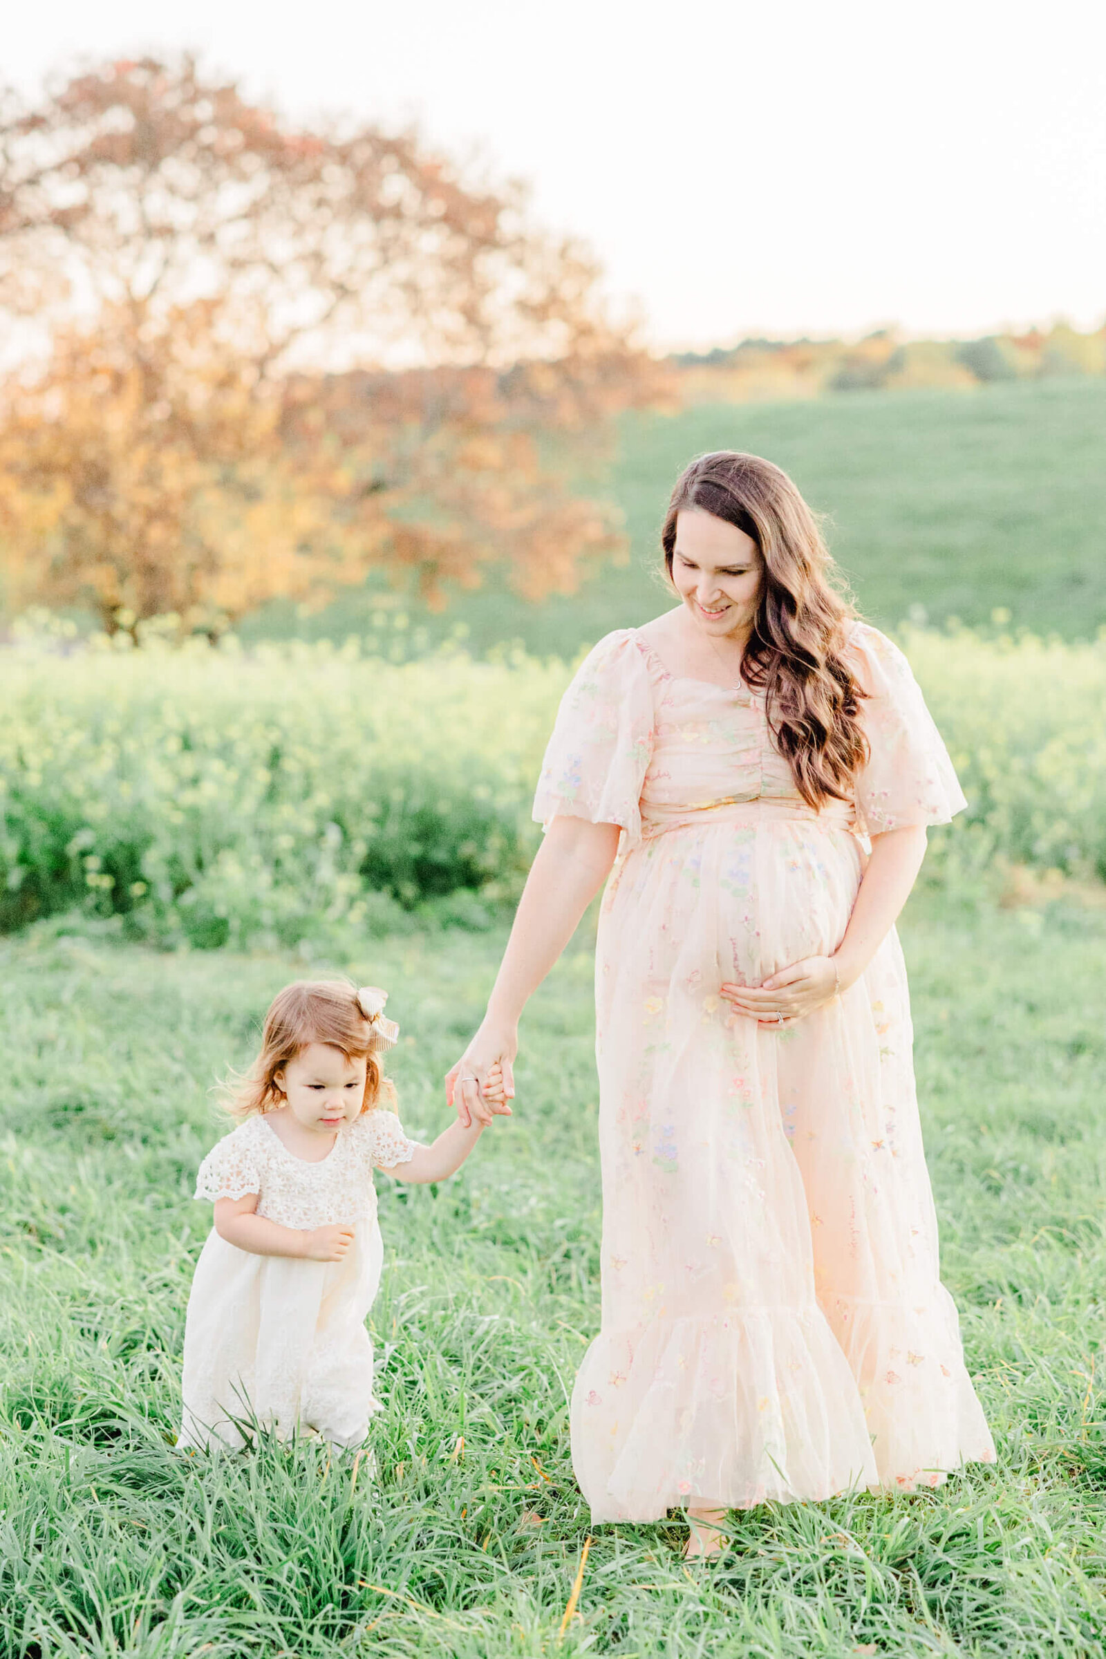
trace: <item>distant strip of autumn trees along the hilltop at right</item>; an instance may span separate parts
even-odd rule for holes
[[[978,340],[905,340],[879,328],[864,340],[741,340],[672,358],[685,403],[819,397],[905,387],[975,387],[1050,375],[1106,375],[1106,327],[1079,333],[988,333]]]

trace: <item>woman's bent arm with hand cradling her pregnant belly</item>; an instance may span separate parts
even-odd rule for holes
[[[738,1014],[778,1025],[776,1012],[799,1020],[856,984],[899,919],[925,858],[925,825],[887,830],[872,836],[867,869],[852,906],[844,937],[832,956],[808,956],[764,980],[763,985],[721,987]]]

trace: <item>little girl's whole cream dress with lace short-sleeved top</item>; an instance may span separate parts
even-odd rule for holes
[[[353,1224],[338,1262],[254,1256],[209,1233],[184,1327],[184,1412],[177,1447],[237,1448],[260,1423],[298,1425],[338,1447],[358,1445],[373,1397],[365,1316],[380,1284],[383,1243],[373,1168],[415,1153],[393,1112],[363,1113],[332,1151],[307,1163],[264,1117],[226,1135],[199,1166],[196,1196],[259,1193],[257,1214],[285,1228]]]

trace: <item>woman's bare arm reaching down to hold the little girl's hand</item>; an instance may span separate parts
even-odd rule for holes
[[[504,1110],[481,1095],[496,1060],[502,1060],[507,1100],[512,1097],[511,1062],[519,1047],[519,1015],[610,874],[617,851],[618,825],[594,825],[584,818],[554,818],[542,838],[526,878],[488,1014],[446,1077],[446,1092],[466,1128],[473,1120],[491,1123],[492,1113]]]

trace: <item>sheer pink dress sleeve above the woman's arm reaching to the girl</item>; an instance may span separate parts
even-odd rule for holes
[[[653,690],[633,629],[600,639],[560,698],[534,818],[618,825],[620,851],[642,839],[642,783],[653,752]]]

